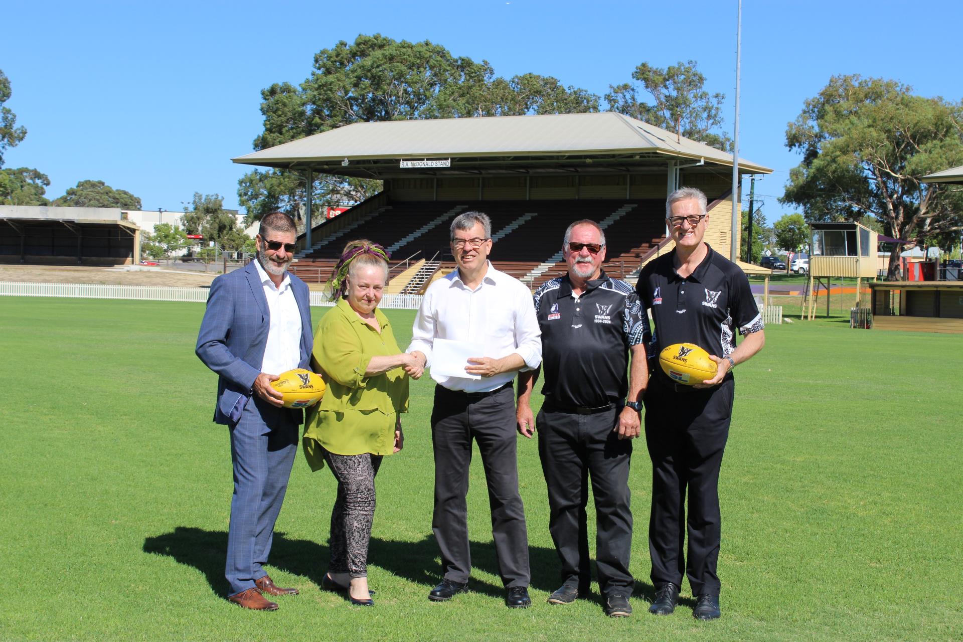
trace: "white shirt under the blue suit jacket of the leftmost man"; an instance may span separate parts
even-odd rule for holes
[[[271,313],[271,326],[268,328],[268,343],[264,347],[261,372],[280,374],[298,368],[300,363],[301,323],[298,300],[287,272],[284,272],[280,287],[276,287],[256,258],[254,266],[261,279],[264,296],[268,299],[268,311]]]

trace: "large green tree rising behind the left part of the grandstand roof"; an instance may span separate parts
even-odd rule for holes
[[[486,61],[453,56],[425,40],[379,34],[339,41],[314,57],[299,87],[276,83],[261,91],[265,149],[355,122],[597,112],[599,97],[564,87],[551,76],[496,77]],[[273,210],[300,218],[304,178],[286,170],[254,170],[239,181],[238,197],[251,222]],[[380,181],[317,177],[312,207],[357,202],[381,189]]]

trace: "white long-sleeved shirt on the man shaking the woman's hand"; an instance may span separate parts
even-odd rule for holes
[[[450,339],[485,347],[479,356],[501,359],[517,353],[525,360],[525,370],[541,363],[541,330],[535,319],[532,293],[521,281],[487,263],[488,270],[475,290],[462,282],[458,270],[429,286],[412,328],[407,351],[421,350],[431,365],[431,346],[435,339]],[[515,372],[470,379],[442,376],[431,378],[449,390],[470,393],[501,388],[515,378]]]

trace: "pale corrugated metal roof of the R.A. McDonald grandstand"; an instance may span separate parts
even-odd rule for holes
[[[232,159],[278,166],[342,159],[611,155],[632,152],[705,159],[732,166],[732,155],[614,112],[360,122]],[[771,169],[744,159],[740,167]]]

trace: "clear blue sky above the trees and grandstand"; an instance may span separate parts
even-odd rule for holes
[[[892,78],[921,95],[963,97],[963,3],[743,0],[741,156],[775,171],[756,192],[771,222],[799,157],[787,122],[834,74]],[[430,39],[487,60],[498,75],[555,76],[603,95],[642,62],[694,60],[707,89],[726,94],[731,133],[736,0],[575,2],[39,2],[9,3],[0,69],[6,103],[28,129],[5,167],[37,167],[55,198],[83,179],[135,193],[144,209],[180,210],[193,193],[238,207],[261,131],[260,93],[299,84],[313,56],[339,39],[381,33]]]

